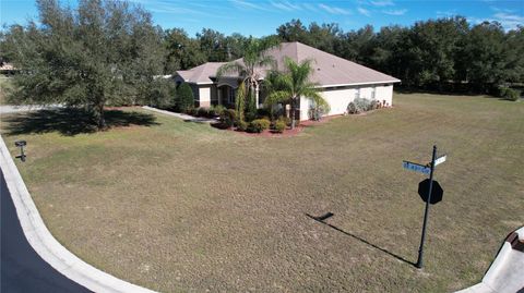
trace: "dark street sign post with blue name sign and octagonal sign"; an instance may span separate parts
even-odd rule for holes
[[[426,208],[424,211],[424,222],[422,222],[422,235],[420,236],[420,246],[418,248],[418,259],[416,267],[422,268],[424,260],[424,242],[426,240],[426,228],[428,225],[429,218],[429,205],[434,205],[442,200],[443,190],[437,181],[433,181],[434,167],[441,164],[445,161],[446,156],[441,156],[437,158],[437,146],[433,146],[433,152],[431,155],[431,161],[427,164],[420,164],[409,161],[403,161],[402,167],[404,169],[420,172],[422,174],[429,174],[429,179],[421,181],[418,184],[418,194],[426,202]]]

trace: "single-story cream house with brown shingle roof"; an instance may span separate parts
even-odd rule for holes
[[[284,58],[295,62],[311,59],[313,73],[311,81],[318,84],[324,99],[330,103],[327,115],[344,114],[347,106],[355,98],[374,99],[384,107],[393,105],[393,84],[400,80],[334,54],[309,47],[298,41],[283,42],[281,46],[269,49],[265,54],[273,56],[277,69],[284,70]],[[241,62],[242,60],[237,60]],[[196,107],[211,105],[235,105],[235,94],[238,88],[238,76],[216,78],[216,71],[226,62],[207,62],[186,71],[177,71],[174,78],[177,84],[186,82],[191,85]],[[261,69],[261,83],[269,69]],[[260,86],[259,86],[260,87]],[[266,93],[263,86],[257,89],[257,105],[262,107]],[[308,120],[309,100],[299,101],[300,120]]]

